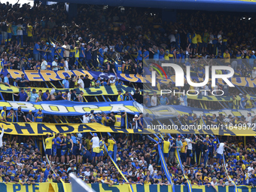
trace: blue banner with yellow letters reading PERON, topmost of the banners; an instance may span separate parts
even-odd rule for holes
[[[105,78],[108,79],[110,77],[114,77],[113,73],[105,73],[105,72],[93,72],[93,71],[85,71],[85,70],[71,70],[71,71],[33,71],[33,70],[26,70],[26,71],[19,71],[14,69],[5,69],[2,70],[1,74],[7,75],[8,73],[11,74],[11,78],[21,78],[22,74],[25,74],[25,78],[29,81],[59,81],[64,79],[66,76],[71,77],[71,75],[89,75],[89,78]],[[121,81],[130,81],[134,83],[149,83],[151,84],[151,75],[133,75],[133,74],[119,74],[117,75]],[[186,77],[184,76],[184,79]],[[203,81],[203,78],[198,77],[191,77],[191,79],[196,79],[197,82]],[[229,78],[229,80],[236,86],[242,87],[256,87],[256,79],[252,78]],[[209,81],[212,81],[209,79]],[[166,78],[161,78],[160,76],[157,77],[157,85],[159,84],[169,84],[169,82],[175,82],[175,76],[167,76]],[[222,79],[217,79],[216,83],[224,84]]]

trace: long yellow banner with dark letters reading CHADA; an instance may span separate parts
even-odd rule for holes
[[[194,126],[148,126],[144,130],[133,129],[120,129],[103,126],[99,123],[8,123],[4,124],[5,133],[11,135],[23,136],[44,136],[47,133],[85,133],[85,132],[103,132],[103,133],[139,133],[139,134],[152,134],[152,133],[170,133],[170,134],[212,134],[218,136],[255,136],[256,126],[227,126],[227,127],[212,127],[203,126],[199,124]]]

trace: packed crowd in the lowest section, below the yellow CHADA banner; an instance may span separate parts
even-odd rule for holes
[[[159,166],[158,143],[151,142],[146,136],[135,135],[133,139],[137,140],[133,140],[123,133],[115,133],[114,137],[101,134],[100,137],[97,133],[47,135],[45,154],[49,157],[49,164],[39,151],[35,137],[2,138],[2,133],[0,180],[20,184],[60,182],[60,179],[69,182],[72,172],[86,183],[169,184]],[[216,136],[153,138],[163,143],[163,157],[174,184],[186,184],[187,179],[191,184],[214,188],[218,185],[233,186],[233,182],[236,185],[255,184],[256,145],[252,137],[248,137],[245,145],[233,140],[218,142]],[[109,159],[105,144],[111,157],[114,145],[117,145],[116,164],[128,183]],[[177,164],[176,149],[184,172]],[[223,157],[228,175],[224,170]]]

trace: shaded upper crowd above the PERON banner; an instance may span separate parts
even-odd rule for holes
[[[206,58],[222,58],[221,64],[231,65],[237,76],[250,76],[256,67],[254,18],[236,16],[231,24],[220,22],[218,14],[181,11],[175,23],[166,23],[154,10],[102,8],[98,15],[96,8],[81,5],[78,17],[67,23],[63,4],[1,7],[3,69],[142,74],[143,59],[160,59],[195,66],[201,76],[198,62]]]

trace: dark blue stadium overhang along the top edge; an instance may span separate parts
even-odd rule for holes
[[[255,12],[256,10],[256,0],[57,0],[56,2],[201,11]]]

